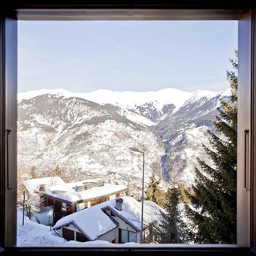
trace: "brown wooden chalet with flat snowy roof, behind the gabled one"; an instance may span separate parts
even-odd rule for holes
[[[40,196],[42,208],[53,207],[53,223],[56,223],[69,214],[115,199],[126,190],[125,185],[83,180],[52,187],[40,184],[34,192]]]

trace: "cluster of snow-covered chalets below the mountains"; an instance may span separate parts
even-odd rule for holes
[[[153,228],[163,211],[154,202],[144,201],[141,230],[142,202],[125,196],[125,185],[98,180],[65,183],[53,176],[25,180],[19,189],[23,189],[24,200],[18,199],[20,210],[26,204],[23,214],[35,223],[51,226],[51,232],[67,241],[139,243],[143,232],[143,243],[154,243]]]

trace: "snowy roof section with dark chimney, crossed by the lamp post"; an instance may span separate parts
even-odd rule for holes
[[[133,197],[122,196],[122,210],[115,208],[115,200],[106,201],[105,203],[95,205],[101,209],[109,208],[117,216],[123,218],[127,223],[133,226],[137,231],[141,230],[141,202],[138,202]],[[145,201],[143,203],[143,228],[155,221],[160,221],[163,208],[152,201]]]

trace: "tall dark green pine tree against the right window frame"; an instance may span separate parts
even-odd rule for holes
[[[237,51],[236,57],[237,57]],[[228,100],[221,98],[219,116],[212,120],[219,135],[208,131],[212,150],[204,146],[214,166],[198,159],[196,184],[192,205],[186,207],[193,231],[190,236],[197,243],[236,243],[237,223],[237,59],[230,60],[235,71],[227,71],[231,88]],[[220,136],[222,136],[220,138]],[[208,176],[206,176],[207,174]]]

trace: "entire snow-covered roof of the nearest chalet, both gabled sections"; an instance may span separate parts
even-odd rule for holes
[[[53,230],[61,228],[68,224],[77,226],[82,233],[85,234],[90,240],[96,239],[101,234],[112,230],[117,225],[106,215],[103,210],[110,209],[118,217],[122,218],[132,226],[137,232],[141,230],[141,202],[138,202],[133,197],[123,196],[122,210],[115,209],[115,199],[106,201],[93,207],[80,210],[79,212],[72,213],[57,221]],[[152,201],[144,201],[143,208],[143,228],[161,218],[161,210],[159,205]],[[115,221],[118,221],[115,219]]]

